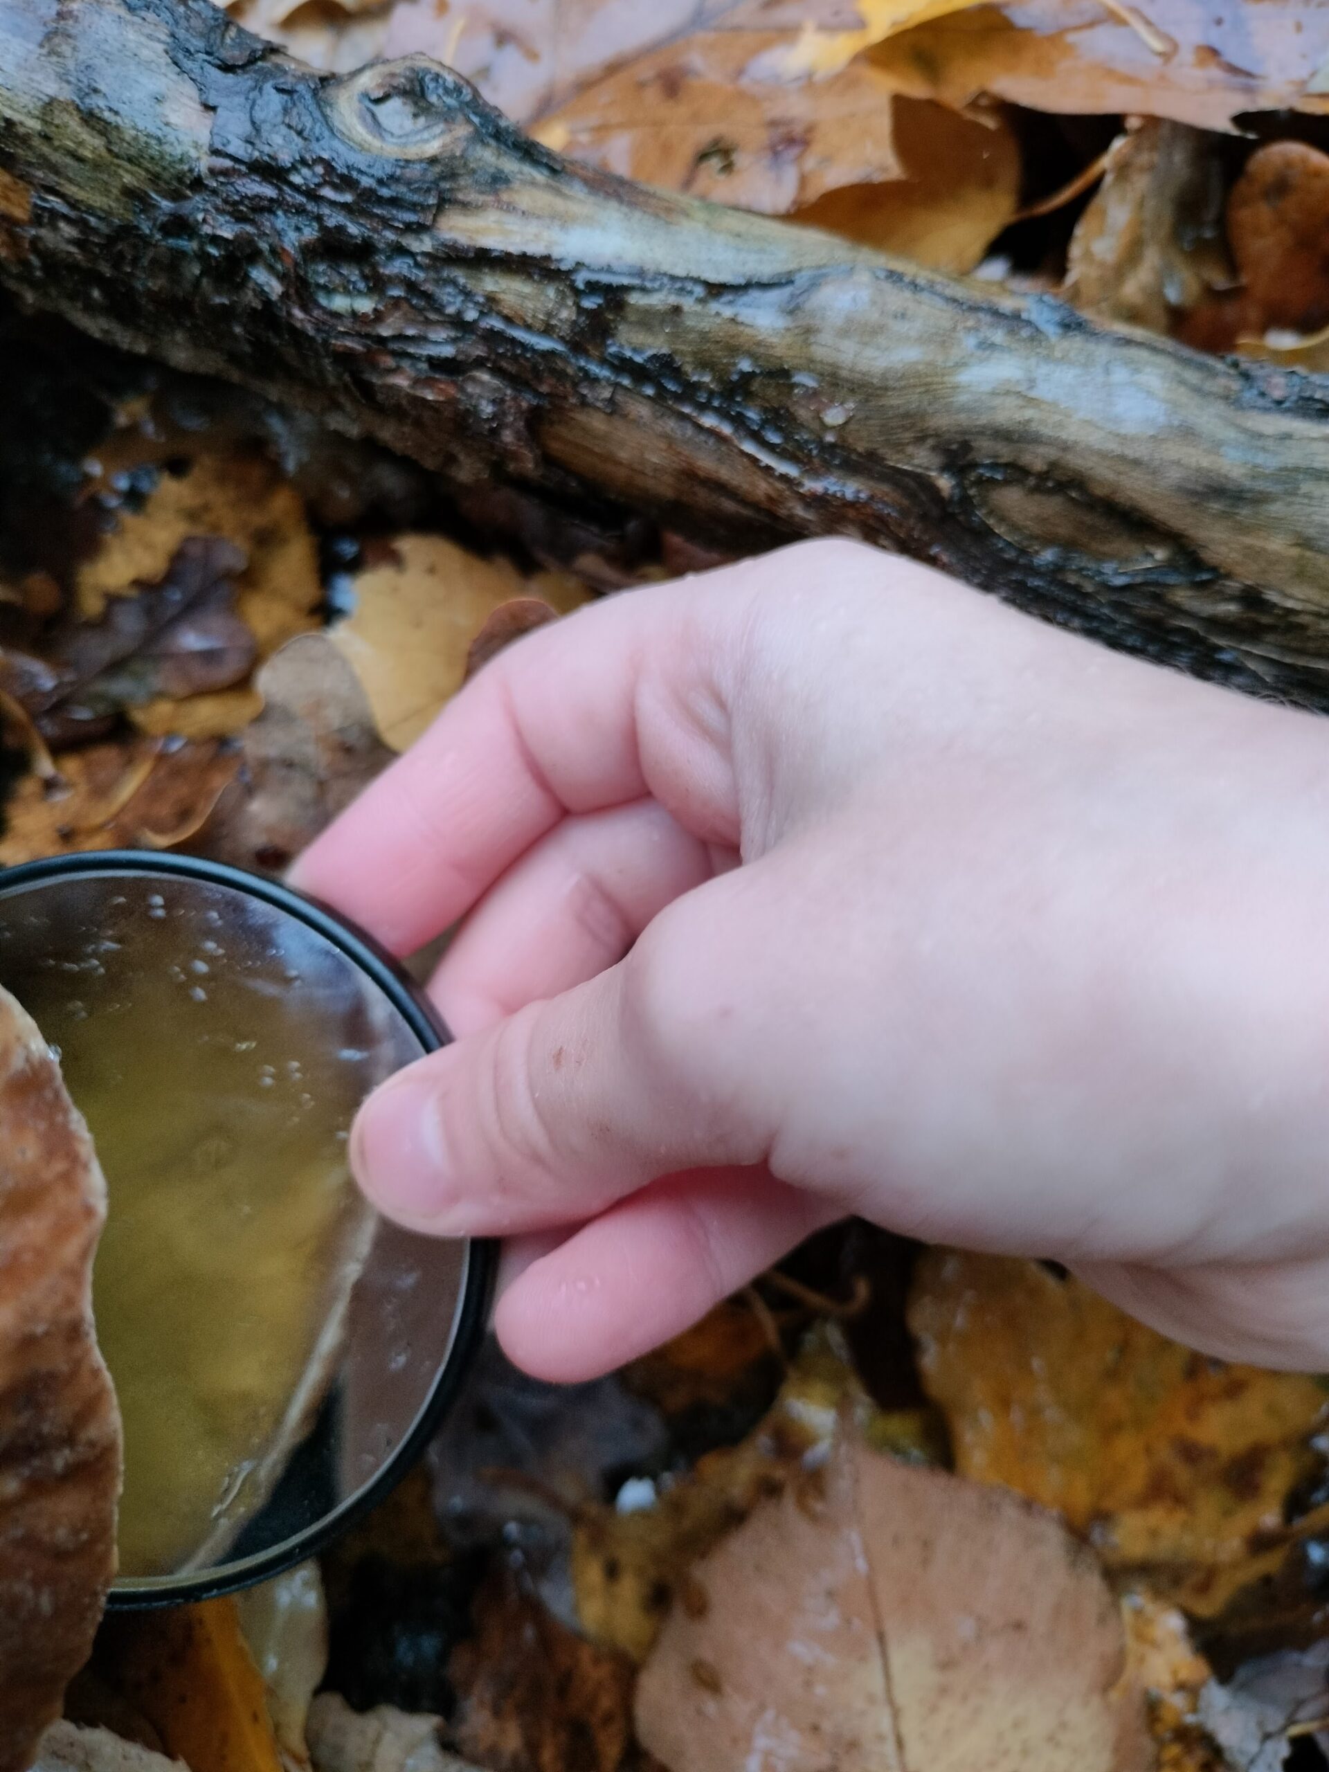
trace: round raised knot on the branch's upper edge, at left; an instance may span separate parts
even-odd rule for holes
[[[470,140],[470,90],[427,55],[404,55],[330,82],[323,108],[351,147],[393,159],[432,159]]]

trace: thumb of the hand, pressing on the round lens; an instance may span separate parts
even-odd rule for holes
[[[361,1108],[360,1185],[443,1237],[581,1223],[661,1175],[762,1162],[773,1127],[723,1038],[689,929],[725,875],[675,900],[618,964],[409,1065]],[[691,950],[691,952],[689,952]]]

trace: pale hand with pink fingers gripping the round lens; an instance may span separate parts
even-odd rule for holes
[[[1329,728],[815,542],[501,654],[305,856],[455,1045],[367,1104],[402,1223],[542,1251],[602,1372],[845,1212],[1329,1364]]]

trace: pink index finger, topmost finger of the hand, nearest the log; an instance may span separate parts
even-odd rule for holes
[[[727,579],[746,590],[750,574],[709,574],[711,592]],[[563,817],[656,792],[643,684],[695,702],[728,608],[693,583],[652,585],[526,634],[315,838],[292,884],[395,953],[432,941]]]

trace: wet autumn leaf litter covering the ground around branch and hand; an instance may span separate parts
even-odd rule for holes
[[[1304,0],[232,12],[326,67],[441,55],[590,165],[1329,365]],[[0,865],[140,843],[282,870],[505,643],[716,560],[7,314],[0,353]],[[307,1574],[115,1621],[51,1767],[1329,1760],[1320,1380],[1198,1359],[1038,1263],[820,1246],[595,1386],[491,1350],[324,1558],[326,1605]]]

